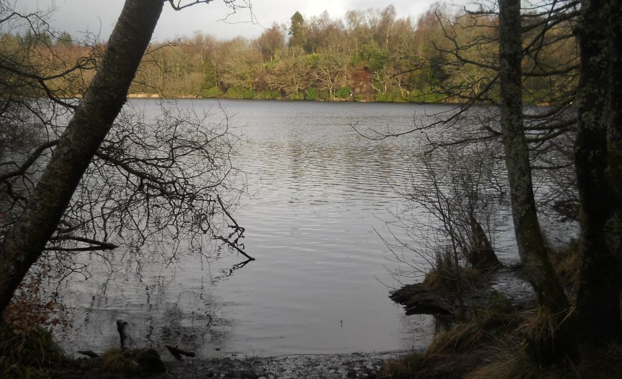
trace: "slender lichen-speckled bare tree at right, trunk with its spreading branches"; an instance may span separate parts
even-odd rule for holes
[[[420,131],[431,136],[432,146],[502,139],[521,261],[540,306],[559,313],[567,309],[567,300],[547,256],[531,168],[572,168],[572,138],[567,133],[572,135],[576,114],[569,110],[572,90],[565,87],[573,83],[578,68],[576,52],[567,46],[573,39],[570,26],[577,16],[576,1],[529,4],[525,14],[519,1],[498,4],[466,9],[454,19],[437,12],[443,38],[435,42],[435,48],[444,57],[442,65],[451,78],[444,82],[444,92],[446,99],[459,101],[459,106],[437,115],[435,122],[416,124],[413,130],[366,134],[386,138]],[[563,51],[565,59],[553,66],[546,59],[547,50]],[[554,79],[544,91],[549,94],[549,108],[523,106],[526,84],[540,77]],[[477,107],[480,103],[493,107]],[[449,131],[442,138],[428,133],[437,128]],[[572,197],[573,189],[570,185],[563,191]]]

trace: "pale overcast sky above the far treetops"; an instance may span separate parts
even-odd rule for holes
[[[12,0],[18,11],[48,10],[55,8],[52,25],[59,31],[66,30],[79,39],[80,32],[100,34],[108,39],[117,21],[124,0]],[[242,3],[242,1],[240,1]],[[166,4],[154,39],[164,41],[190,36],[195,31],[229,39],[241,35],[254,38],[261,35],[263,28],[272,23],[285,23],[289,26],[290,17],[299,11],[305,18],[316,16],[327,10],[332,18],[341,18],[348,10],[384,9],[389,4],[395,6],[397,17],[413,16],[428,9],[433,0],[252,0],[255,23],[248,10],[238,10],[228,21],[218,21],[227,16],[230,9],[223,0],[214,0],[207,5],[200,4],[175,12]]]

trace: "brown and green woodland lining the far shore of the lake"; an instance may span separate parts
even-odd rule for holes
[[[464,59],[498,53],[486,43],[498,37],[498,18],[469,14],[437,3],[415,20],[398,18],[395,8],[387,6],[350,10],[343,19],[331,19],[328,12],[315,17],[296,12],[290,25],[275,23],[256,39],[219,40],[196,32],[152,44],[130,93],[139,97],[464,102],[469,95],[456,88],[485,86],[495,75],[485,66],[464,70]],[[556,26],[560,36],[572,35],[570,28],[569,22]],[[48,44],[41,49],[45,56],[29,49],[30,59],[33,64],[44,61],[46,66],[50,61],[62,66],[80,57],[97,57],[105,47],[75,43],[66,32],[37,37],[37,43]],[[0,38],[4,48],[33,40],[32,35],[19,34]],[[454,45],[460,41],[480,42],[461,46],[458,56]],[[50,51],[55,57],[49,57]],[[560,38],[543,48],[549,67],[567,64],[577,55],[573,38]],[[525,66],[529,70],[529,61]],[[93,71],[73,75],[81,85],[59,84],[64,86],[59,95],[81,95]],[[567,77],[530,77],[525,81],[525,101],[554,102],[561,82],[565,89],[576,86]]]

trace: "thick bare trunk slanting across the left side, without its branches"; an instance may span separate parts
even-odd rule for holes
[[[21,219],[0,245],[0,314],[46,246],[119,114],[160,18],[162,0],[126,0],[99,71],[70,120]]]

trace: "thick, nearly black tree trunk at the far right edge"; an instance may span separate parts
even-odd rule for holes
[[[581,269],[578,277],[577,319],[586,348],[602,346],[619,337],[620,327],[620,266],[619,247],[611,242],[620,239],[616,226],[616,196],[612,191],[607,167],[619,175],[619,129],[611,129],[607,155],[607,106],[615,101],[608,90],[611,74],[618,78],[620,66],[610,61],[610,36],[607,5],[613,0],[582,1],[581,18],[576,28],[581,57],[577,88],[578,133],[575,144],[576,179],[581,200]],[[619,5],[618,5],[619,8]],[[620,17],[618,15],[618,17]],[[619,19],[617,19],[619,22]],[[619,49],[619,46],[616,47]],[[618,62],[619,63],[619,62]],[[619,104],[618,104],[619,106]],[[620,110],[612,109],[613,114]],[[617,120],[617,121],[616,121]]]

